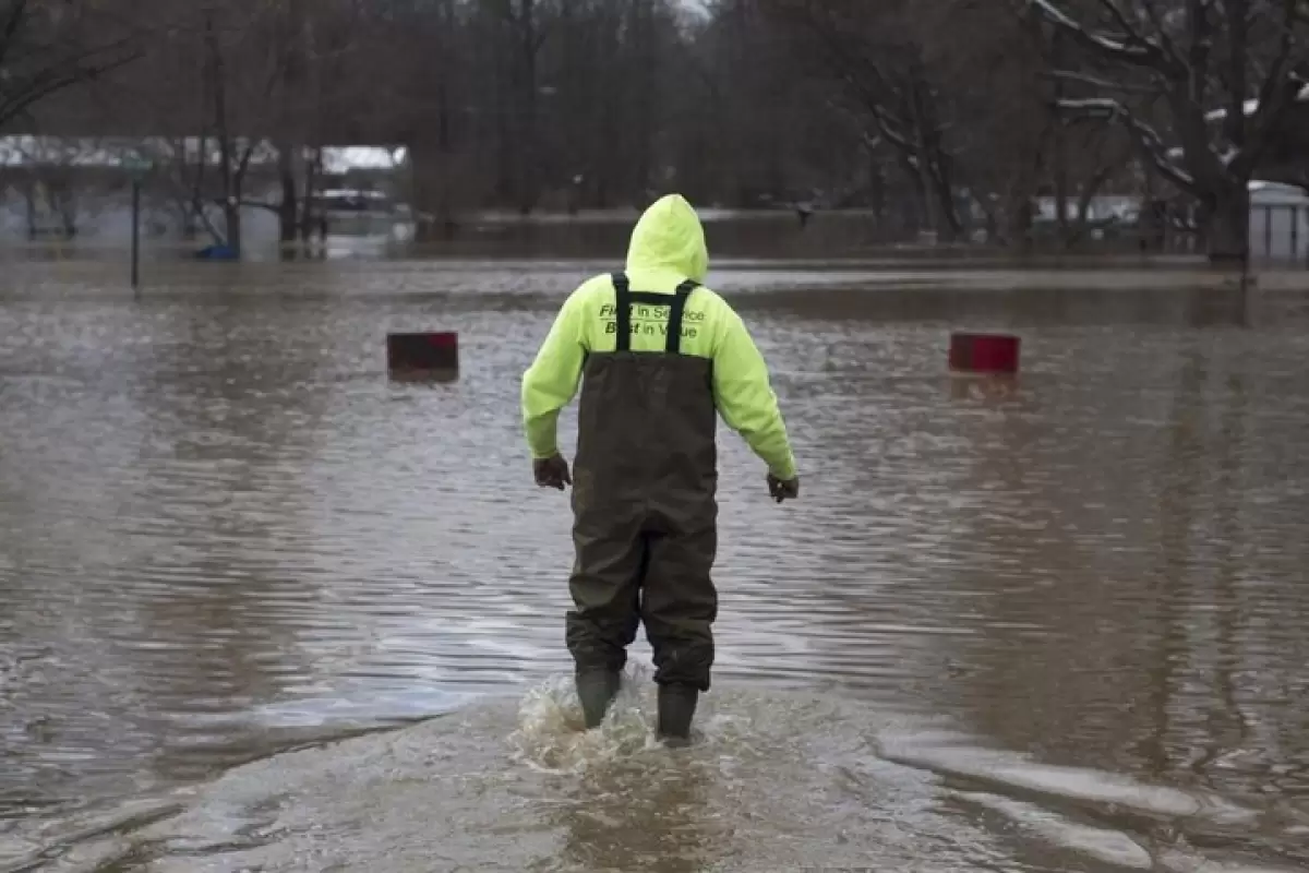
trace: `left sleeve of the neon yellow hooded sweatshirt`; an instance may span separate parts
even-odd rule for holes
[[[580,291],[564,301],[537,359],[522,374],[522,424],[533,459],[559,450],[559,411],[572,401],[581,381],[586,349]]]

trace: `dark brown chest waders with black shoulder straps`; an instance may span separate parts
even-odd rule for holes
[[[583,368],[565,636],[588,726],[618,690],[637,624],[654,653],[661,733],[685,736],[709,687],[717,411],[712,363],[681,353],[683,335],[704,329],[686,317],[698,287],[631,291],[614,274],[615,348],[590,352]],[[634,352],[637,332],[662,335],[664,351]]]

